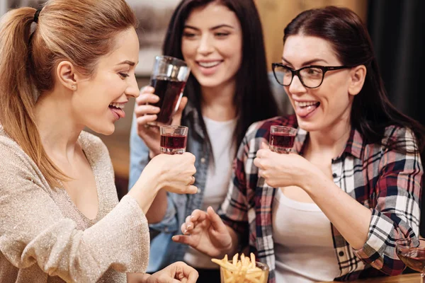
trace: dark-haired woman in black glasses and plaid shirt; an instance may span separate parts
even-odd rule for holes
[[[215,258],[249,246],[269,282],[398,275],[395,240],[419,236],[424,127],[390,104],[353,11],[304,11],[283,41],[273,71],[295,115],[249,127],[220,212],[194,211],[174,241]],[[268,149],[271,125],[297,127],[294,153]]]

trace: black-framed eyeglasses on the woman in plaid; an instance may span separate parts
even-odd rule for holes
[[[298,76],[302,86],[306,88],[318,88],[324,79],[324,74],[327,71],[347,69],[348,66],[307,66],[301,69],[293,70],[280,63],[272,63],[273,74],[276,81],[282,86],[289,86],[292,83],[294,76]]]

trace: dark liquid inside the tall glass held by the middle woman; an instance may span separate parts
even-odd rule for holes
[[[156,122],[164,125],[171,123],[171,117],[185,85],[184,81],[173,81],[164,77],[152,79],[151,86],[155,88],[155,94],[159,96],[159,101],[152,104],[160,108]]]

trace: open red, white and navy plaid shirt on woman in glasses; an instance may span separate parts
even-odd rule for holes
[[[225,224],[237,231],[239,244],[249,245],[259,260],[270,267],[268,282],[274,283],[271,212],[276,188],[268,187],[254,166],[256,151],[261,141],[268,142],[271,125],[297,127],[297,120],[295,115],[276,117],[249,127],[219,214]],[[298,129],[294,149],[300,155],[307,137],[307,132]],[[405,128],[387,127],[385,137],[397,139],[409,149],[416,146],[412,132]],[[419,154],[401,154],[377,144],[365,144],[361,134],[352,129],[344,151],[332,160],[331,170],[334,183],[372,212],[368,239],[361,250],[354,250],[331,226],[341,271],[337,279],[398,275],[404,264],[395,252],[395,239],[419,235],[419,196],[424,173]]]

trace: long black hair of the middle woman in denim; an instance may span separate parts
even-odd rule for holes
[[[163,53],[183,59],[181,54],[181,37],[186,19],[194,8],[217,2],[233,11],[242,27],[242,63],[236,75],[236,93],[234,105],[237,107],[237,126],[234,137],[237,145],[249,125],[278,115],[276,100],[273,98],[268,82],[266,54],[263,44],[263,32],[259,13],[252,0],[183,0],[174,11],[166,32]],[[191,74],[184,95],[195,105],[200,126],[205,137],[208,133],[200,111],[200,84]]]

